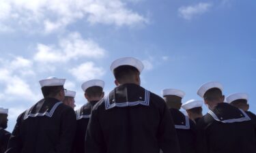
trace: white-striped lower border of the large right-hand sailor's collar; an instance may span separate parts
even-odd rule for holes
[[[221,114],[217,114],[216,112],[209,110],[208,114],[214,118],[214,120],[218,122],[223,122],[223,123],[232,123],[232,122],[244,122],[247,120],[251,120],[251,118],[244,112],[242,109],[239,109],[240,113],[239,114],[234,114],[233,118],[227,118],[226,116],[222,116]]]

